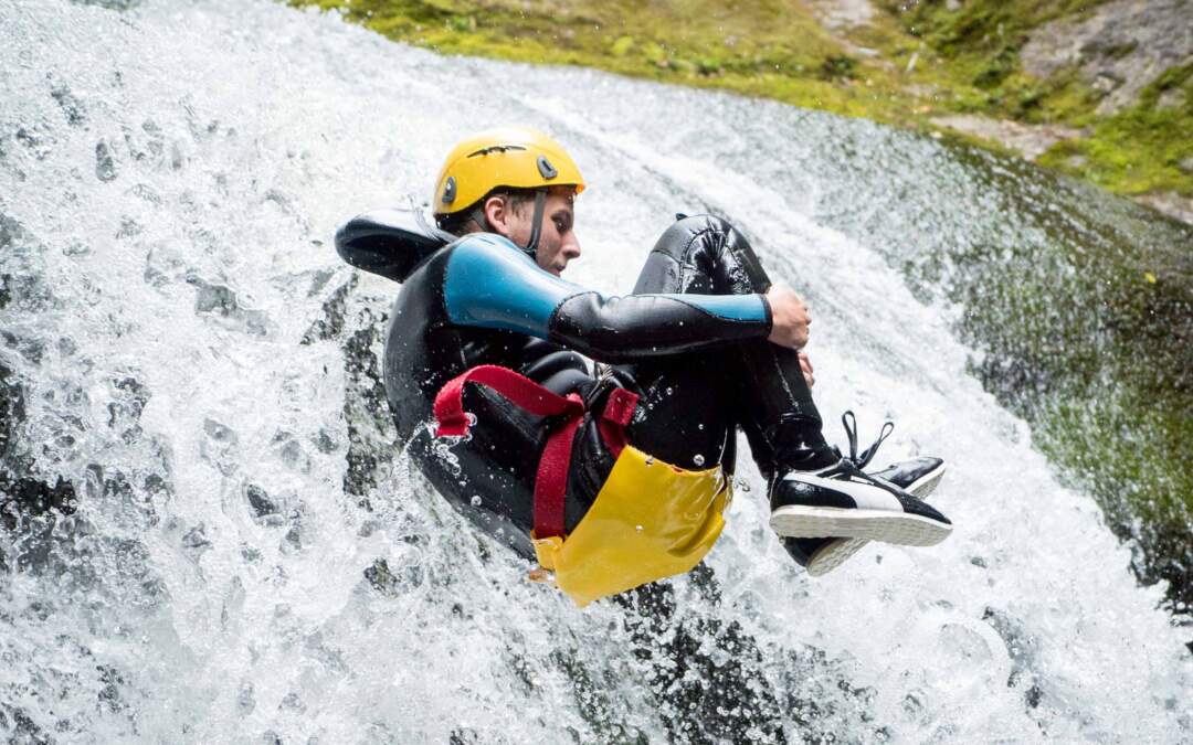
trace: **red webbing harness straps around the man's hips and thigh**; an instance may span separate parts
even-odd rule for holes
[[[557,535],[563,538],[563,497],[571,466],[571,442],[585,415],[585,402],[576,393],[557,396],[525,375],[499,365],[478,365],[449,380],[435,396],[434,414],[439,423],[435,436],[463,436],[472,426],[472,417],[464,412],[464,384],[477,383],[493,389],[514,405],[538,416],[558,416],[543,447],[534,476],[536,539]],[[613,389],[596,428],[605,446],[617,458],[626,445],[625,426],[638,405],[637,393]]]

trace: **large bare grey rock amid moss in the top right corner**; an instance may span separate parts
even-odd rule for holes
[[[1114,113],[1164,70],[1193,63],[1193,0],[1115,0],[1083,20],[1045,24],[1020,61],[1037,77],[1076,67],[1104,95],[1098,113]]]

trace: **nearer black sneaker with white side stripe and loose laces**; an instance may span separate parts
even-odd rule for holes
[[[861,466],[873,458],[894,426],[857,453],[852,411],[841,417],[849,435],[849,458],[820,471],[789,471],[771,485],[771,528],[787,538],[866,539],[903,546],[934,546],[952,523],[940,511]]]

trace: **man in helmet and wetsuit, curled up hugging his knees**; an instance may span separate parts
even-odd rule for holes
[[[849,454],[824,441],[798,352],[808,308],[725,221],[680,217],[632,294],[561,279],[580,256],[583,188],[549,137],[492,130],[447,156],[438,229],[366,215],[336,235],[351,263],[402,281],[385,391],[440,493],[581,606],[700,561],[724,526],[738,427],[769,485],[771,527],[809,573],[867,540],[948,536],[919,498],[940,459],[863,472],[891,426],[859,453],[852,412]]]

